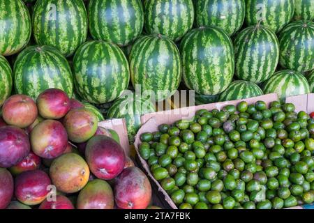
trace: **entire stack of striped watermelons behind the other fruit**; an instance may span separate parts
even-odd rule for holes
[[[128,86],[153,105],[180,83],[197,104],[284,100],[314,91],[313,20],[308,0],[1,0],[0,106],[57,88],[120,117]]]

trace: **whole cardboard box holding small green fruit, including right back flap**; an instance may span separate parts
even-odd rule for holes
[[[248,98],[244,101],[248,102],[248,104],[252,104],[256,102],[257,100],[263,100],[264,102],[267,102],[268,104],[274,100],[278,100],[278,96],[275,93],[268,94],[268,95],[262,95],[255,98]],[[170,196],[163,190],[163,188],[160,186],[158,181],[152,176],[151,171],[149,169],[149,165],[147,164],[146,160],[142,159],[138,153],[138,146],[140,146],[140,135],[144,132],[155,132],[158,130],[158,125],[162,123],[172,124],[175,121],[178,121],[180,119],[184,118],[191,118],[195,115],[195,112],[200,109],[221,109],[225,105],[237,105],[240,101],[243,100],[234,100],[229,102],[217,102],[207,105],[198,105],[193,107],[183,107],[180,109],[173,109],[170,111],[165,112],[155,112],[151,114],[144,114],[141,117],[142,121],[142,127],[137,132],[137,135],[135,137],[135,150],[137,152],[137,159],[139,160],[140,164],[142,165],[142,168],[147,172],[147,175],[149,178],[151,178],[151,181],[154,182],[154,186],[156,187],[156,192],[160,195],[160,200],[166,201],[165,206],[163,208],[174,208],[177,209],[177,206],[174,204]],[[296,105],[296,110],[299,112],[301,110],[304,110],[305,112],[314,112],[314,93],[308,94],[308,95],[297,95],[294,97],[287,98],[286,102],[293,102],[294,105]],[[313,206],[311,206],[313,208]],[[303,209],[302,206],[293,207],[294,209]]]

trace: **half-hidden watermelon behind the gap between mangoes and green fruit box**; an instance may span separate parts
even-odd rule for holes
[[[142,98],[140,95],[130,93],[117,99],[108,110],[107,118],[126,118],[128,139],[130,144],[141,125],[141,115],[155,112],[155,106],[151,100]]]

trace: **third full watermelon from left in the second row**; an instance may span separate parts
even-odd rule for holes
[[[177,46],[165,36],[151,34],[135,42],[129,56],[133,87],[154,91],[156,100],[165,100],[181,82],[181,59]]]

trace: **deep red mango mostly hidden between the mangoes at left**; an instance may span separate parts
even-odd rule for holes
[[[38,169],[40,167],[40,163],[40,157],[38,157],[38,155],[31,151],[29,152],[29,155],[27,155],[27,157],[24,157],[24,159],[17,163],[15,166],[10,167],[9,170],[11,174],[17,176],[24,171]]]

